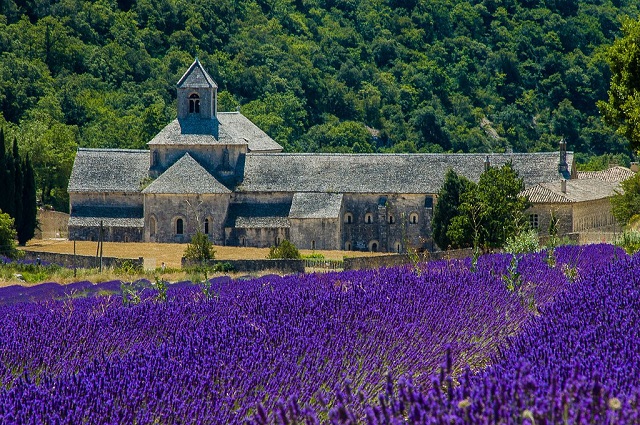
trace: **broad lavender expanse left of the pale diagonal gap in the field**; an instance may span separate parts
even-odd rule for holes
[[[481,370],[559,296],[567,267],[581,279],[612,256],[574,248],[559,250],[553,265],[544,254],[524,256],[517,273],[511,256],[493,255],[474,272],[468,262],[439,262],[221,282],[206,297],[179,288],[168,302],[149,295],[133,306],[111,296],[2,307],[0,418],[238,423],[259,421],[261,411],[275,421],[282,409],[322,417],[351,403],[333,396],[350,382],[362,396],[345,411],[364,420],[382,408],[375,396],[389,387],[388,374],[429,388],[445,346],[456,359],[450,373]],[[506,289],[508,272],[519,292]],[[535,309],[523,302],[531,294]],[[279,402],[287,399],[297,402]],[[310,407],[296,411],[301,405]]]

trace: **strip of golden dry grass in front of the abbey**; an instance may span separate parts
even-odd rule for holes
[[[76,254],[96,255],[97,242],[76,242]],[[156,267],[165,263],[167,267],[180,268],[180,260],[186,248],[186,244],[171,243],[122,243],[105,242],[103,245],[103,255],[105,257],[118,258],[139,258],[144,257],[145,261],[155,259]],[[57,252],[62,254],[73,254],[73,241],[68,240],[31,240],[23,249],[40,252]],[[218,260],[251,260],[263,259],[269,254],[269,248],[243,248],[232,246],[215,246],[216,259]],[[361,257],[370,255],[380,255],[369,252],[347,252],[347,251],[309,251],[301,250],[302,255],[312,252],[319,253],[331,260],[341,260],[345,255],[350,257]]]

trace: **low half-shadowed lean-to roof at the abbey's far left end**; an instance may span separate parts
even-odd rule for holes
[[[73,206],[69,226],[144,227],[143,207],[131,206]]]

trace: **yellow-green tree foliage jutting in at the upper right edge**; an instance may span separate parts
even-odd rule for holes
[[[640,151],[640,21],[627,19],[623,37],[608,51],[611,68],[609,100],[598,102],[605,121],[623,134],[635,152]]]

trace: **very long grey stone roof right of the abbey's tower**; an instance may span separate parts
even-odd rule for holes
[[[478,181],[486,158],[513,162],[525,187],[560,177],[560,154],[247,154],[244,192],[437,193],[449,168]],[[571,169],[573,153],[567,153]]]

